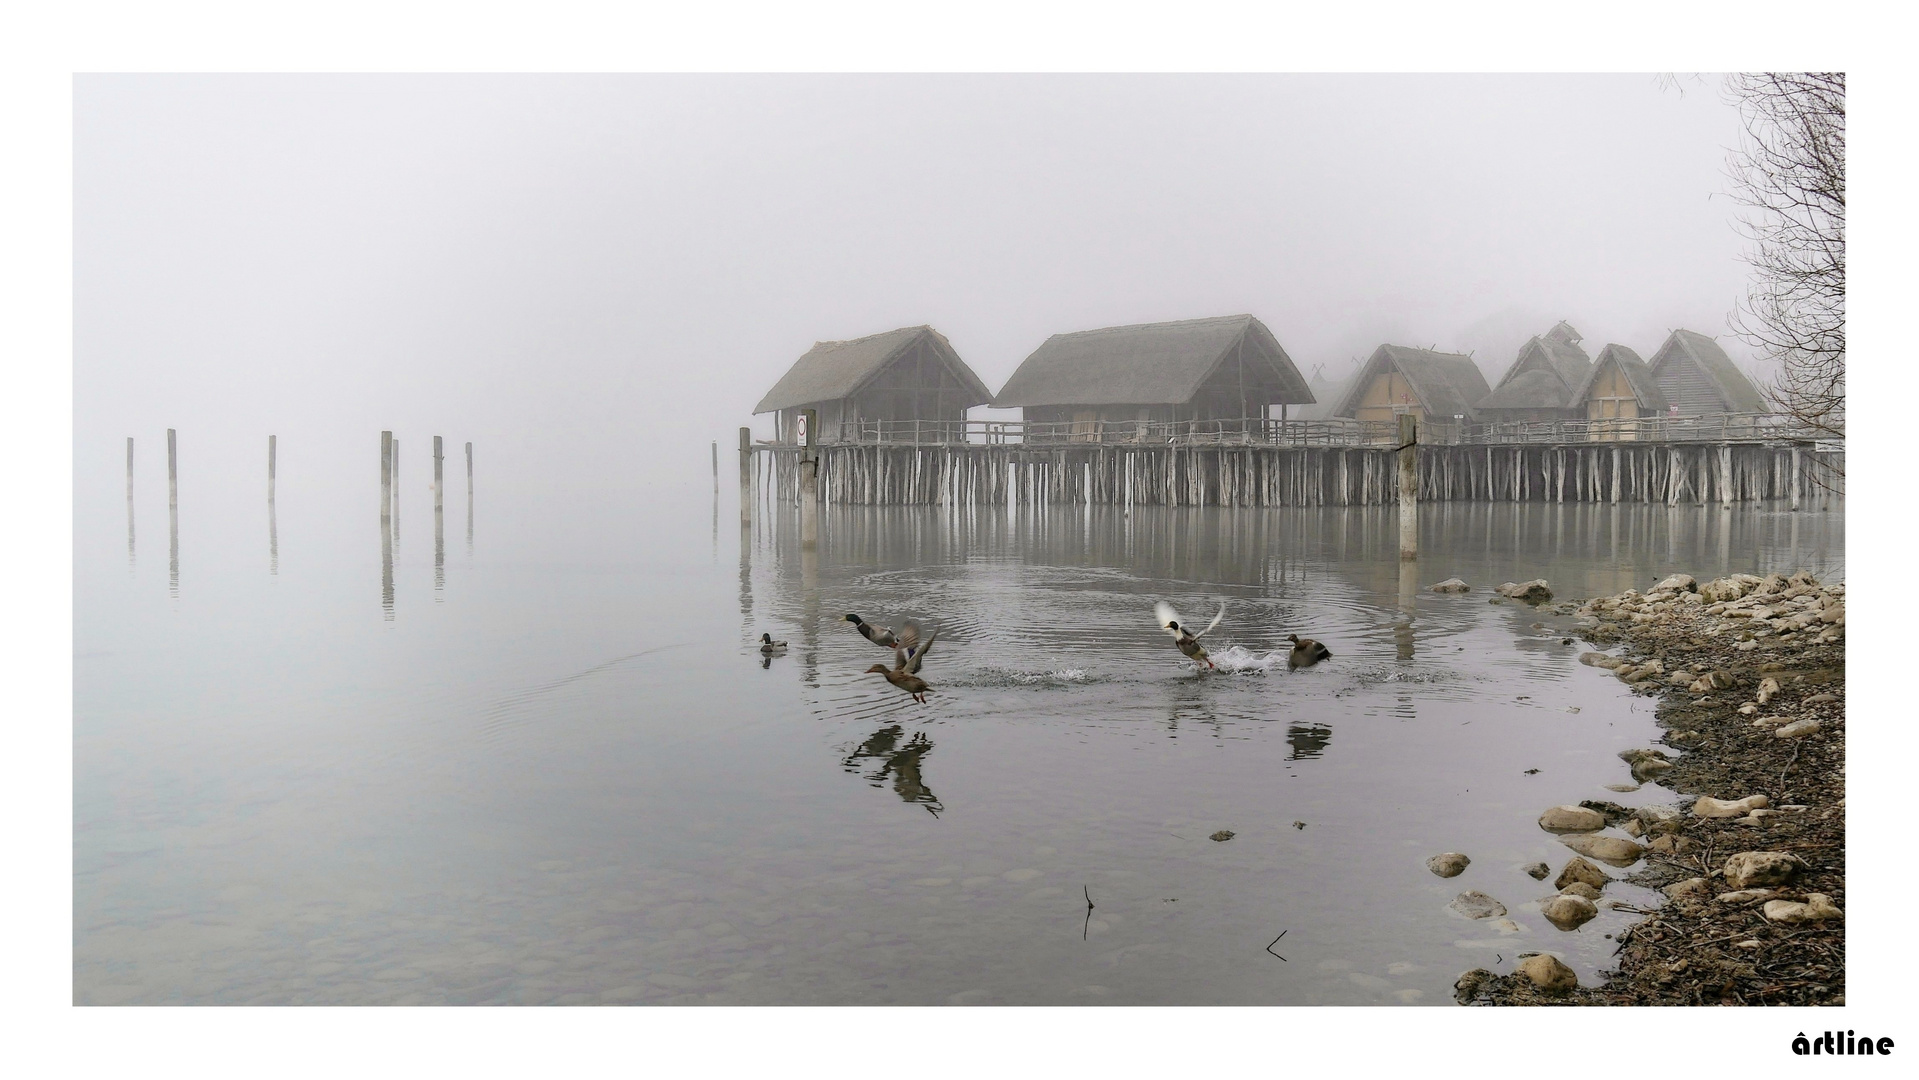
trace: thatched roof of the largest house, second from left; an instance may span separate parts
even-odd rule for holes
[[[1280,386],[1274,403],[1313,401],[1307,380],[1267,324],[1251,315],[1226,315],[1054,334],[1019,364],[992,403],[1000,409],[1180,405],[1199,393],[1244,338],[1259,345],[1247,355],[1265,359],[1272,368]]]

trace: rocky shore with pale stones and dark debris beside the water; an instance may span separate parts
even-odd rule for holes
[[[1622,752],[1631,781],[1622,775],[1618,790],[1656,781],[1683,800],[1633,810],[1583,800],[1547,810],[1539,825],[1579,856],[1633,867],[1625,880],[1666,902],[1620,934],[1616,969],[1599,986],[1577,986],[1551,953],[1528,953],[1510,973],[1464,973],[1455,996],[1472,1005],[1842,1005],[1844,585],[1806,572],[1704,585],[1681,574],[1556,612],[1579,637],[1618,646],[1583,662],[1658,696],[1664,746]],[[1610,880],[1583,857],[1568,863],[1554,882],[1566,898],[1554,925],[1572,932],[1595,900],[1618,904],[1600,900]]]

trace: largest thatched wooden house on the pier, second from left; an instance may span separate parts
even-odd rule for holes
[[[1313,391],[1291,357],[1251,315],[1188,318],[1054,334],[1006,382],[996,407],[1017,407],[1032,424],[1057,424],[1071,441],[1148,437],[1155,424],[1219,422],[1244,432],[1272,405],[1309,405]],[[1213,426],[1199,424],[1199,432]]]

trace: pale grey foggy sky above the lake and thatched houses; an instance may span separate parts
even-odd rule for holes
[[[919,322],[994,389],[1242,311],[1305,372],[1495,380],[1558,318],[1744,364],[1735,138],[1648,75],[79,77],[75,460],[405,428],[704,470],[816,340]]]

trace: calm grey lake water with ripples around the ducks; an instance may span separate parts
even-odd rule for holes
[[[802,556],[787,516],[664,503],[509,491],[468,543],[455,487],[436,551],[409,487],[391,591],[370,491],[282,487],[271,541],[182,506],[178,570],[163,503],[136,551],[88,510],[75,1001],[1451,1005],[1539,950],[1591,980],[1629,915],[1554,930],[1520,867],[1570,857],[1547,806],[1668,798],[1604,788],[1650,704],[1485,587],[1844,574],[1836,508],[1428,506],[1401,575],[1378,508],[842,508]],[[1226,606],[1219,673],[1159,599]],[[929,704],[846,612],[940,627]],[[1290,673],[1286,633],[1334,660]],[[1451,915],[1468,888],[1518,930]]]

